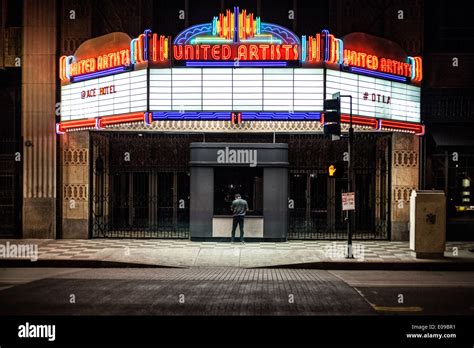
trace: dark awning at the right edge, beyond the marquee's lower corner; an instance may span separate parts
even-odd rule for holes
[[[472,146],[474,147],[474,127],[460,126],[427,126],[426,134],[433,137],[436,146]]]

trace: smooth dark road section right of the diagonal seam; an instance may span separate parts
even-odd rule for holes
[[[330,273],[357,290],[378,314],[474,314],[473,272],[335,270]]]

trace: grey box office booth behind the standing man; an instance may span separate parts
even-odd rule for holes
[[[190,166],[191,240],[230,237],[236,193],[249,204],[245,238],[286,240],[287,144],[191,143]]]

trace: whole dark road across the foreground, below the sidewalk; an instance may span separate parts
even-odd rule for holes
[[[474,272],[0,269],[0,315],[473,315]]]

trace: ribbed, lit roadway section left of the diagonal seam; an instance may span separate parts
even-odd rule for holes
[[[374,314],[343,280],[314,270],[101,268],[0,291],[7,316]]]

